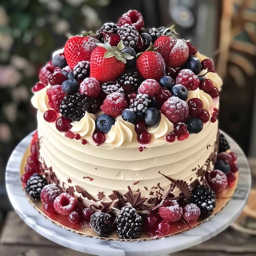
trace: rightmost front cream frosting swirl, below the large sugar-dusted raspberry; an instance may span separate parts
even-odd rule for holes
[[[161,114],[159,125],[156,127],[149,127],[148,133],[150,133],[153,138],[157,139],[169,134],[172,130],[173,123],[170,122],[164,114]]]

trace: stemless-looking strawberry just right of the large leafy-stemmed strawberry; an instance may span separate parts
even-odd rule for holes
[[[159,81],[166,74],[163,57],[154,51],[143,52],[136,61],[136,68],[145,79]]]

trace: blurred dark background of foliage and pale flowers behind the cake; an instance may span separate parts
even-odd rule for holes
[[[215,62],[224,82],[220,128],[256,156],[255,0],[1,0],[0,223],[11,208],[4,172],[15,145],[36,129],[30,103],[38,70],[68,35],[97,31],[129,9],[145,27],[170,27]],[[1,228],[0,228],[1,229]]]

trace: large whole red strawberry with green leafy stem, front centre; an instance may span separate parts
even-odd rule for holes
[[[102,84],[120,76],[125,69],[126,59],[134,57],[126,52],[121,52],[124,49],[122,40],[117,47],[111,47],[108,42],[98,45],[91,54],[90,77],[96,78]]]

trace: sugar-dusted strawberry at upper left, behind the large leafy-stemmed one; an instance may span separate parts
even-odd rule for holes
[[[79,61],[90,61],[92,51],[97,47],[95,43],[100,43],[91,36],[73,36],[68,39],[64,47],[64,55],[71,69]]]

